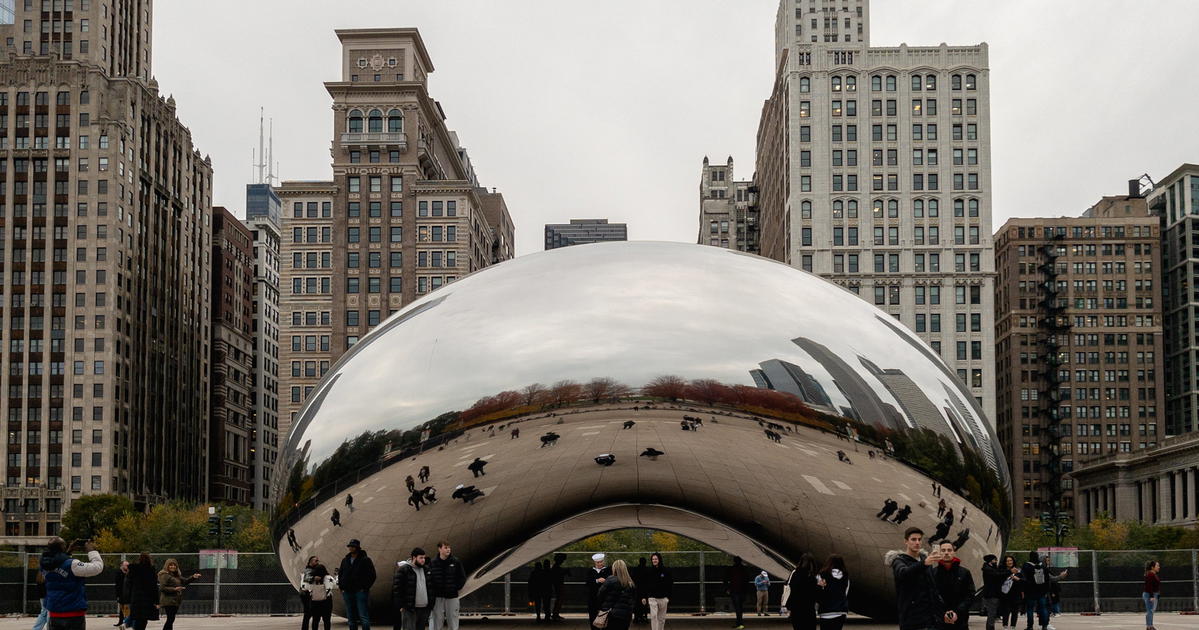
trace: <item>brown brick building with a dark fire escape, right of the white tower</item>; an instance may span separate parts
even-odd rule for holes
[[[1072,481],[1050,485],[1055,470],[1161,439],[1158,252],[1157,218],[1138,197],[1104,198],[1081,217],[1013,218],[995,234],[996,419],[1017,518],[1054,499],[1074,510]]]

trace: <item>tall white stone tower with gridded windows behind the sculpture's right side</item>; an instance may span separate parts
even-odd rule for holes
[[[782,0],[776,53],[761,252],[916,331],[994,424],[987,44],[872,47],[868,0]]]

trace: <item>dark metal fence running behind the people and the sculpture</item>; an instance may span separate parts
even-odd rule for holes
[[[650,552],[609,553],[609,562],[623,559],[635,568]],[[1020,562],[1026,552],[1012,552]],[[586,610],[586,587],[583,582],[591,565],[591,552],[567,553],[564,566],[567,580],[562,611],[579,613]],[[114,577],[122,559],[134,560],[135,554],[103,554],[104,572],[88,580],[90,611],[97,614],[116,613]],[[722,581],[731,558],[721,552],[663,552],[674,574],[674,598],[670,610],[680,613],[730,612],[731,606]],[[288,582],[273,553],[239,553],[236,568],[199,569],[195,553],[156,553],[157,565],[167,558],[179,560],[185,575],[199,570],[200,580],[186,590],[180,614],[299,614],[300,599]],[[1199,611],[1199,550],[1175,551],[1080,551],[1079,566],[1070,568],[1061,581],[1062,612],[1138,612],[1144,584],[1145,562],[1162,563],[1162,594],[1159,612]],[[0,614],[36,614],[40,610],[35,583],[38,554],[34,552],[0,552]],[[379,566],[379,578],[390,571]],[[752,568],[751,568],[752,569]],[[462,611],[476,614],[531,613],[529,574],[524,566],[463,598]],[[852,568],[850,568],[852,570]],[[771,582],[771,606],[777,608],[783,584]],[[746,602],[752,606],[751,601]]]

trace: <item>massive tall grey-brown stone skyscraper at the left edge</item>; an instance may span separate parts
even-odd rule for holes
[[[56,533],[84,493],[203,500],[212,168],[150,78],[152,5],[10,5],[5,530]]]

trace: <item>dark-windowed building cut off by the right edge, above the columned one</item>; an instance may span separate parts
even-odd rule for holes
[[[1153,186],[1162,223],[1165,322],[1165,433],[1199,430],[1199,164],[1182,164]]]

